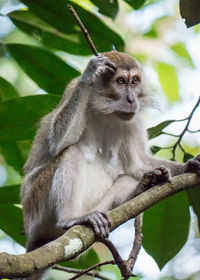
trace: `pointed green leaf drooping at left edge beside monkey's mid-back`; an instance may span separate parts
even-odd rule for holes
[[[24,158],[15,141],[0,141],[0,150],[8,165],[23,175]]]

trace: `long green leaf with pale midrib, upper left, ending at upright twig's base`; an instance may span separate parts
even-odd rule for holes
[[[8,16],[19,29],[46,46],[76,55],[91,54],[88,43],[81,32],[63,33],[28,10],[14,11]]]

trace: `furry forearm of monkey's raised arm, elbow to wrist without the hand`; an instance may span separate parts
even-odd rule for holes
[[[79,140],[85,129],[89,94],[90,88],[82,77],[66,89],[61,104],[54,110],[50,120],[49,148],[52,156]]]

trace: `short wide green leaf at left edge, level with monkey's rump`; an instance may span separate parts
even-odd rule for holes
[[[19,185],[0,187],[0,204],[11,203],[19,204]]]

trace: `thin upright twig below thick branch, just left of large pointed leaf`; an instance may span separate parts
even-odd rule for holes
[[[128,267],[131,271],[133,270],[133,267],[137,260],[137,256],[142,247],[143,235],[142,235],[142,226],[141,226],[141,215],[138,215],[135,218],[134,226],[135,226],[135,238],[134,238],[134,242],[133,242],[133,247],[132,247],[132,250],[128,257],[128,260],[126,261]]]

